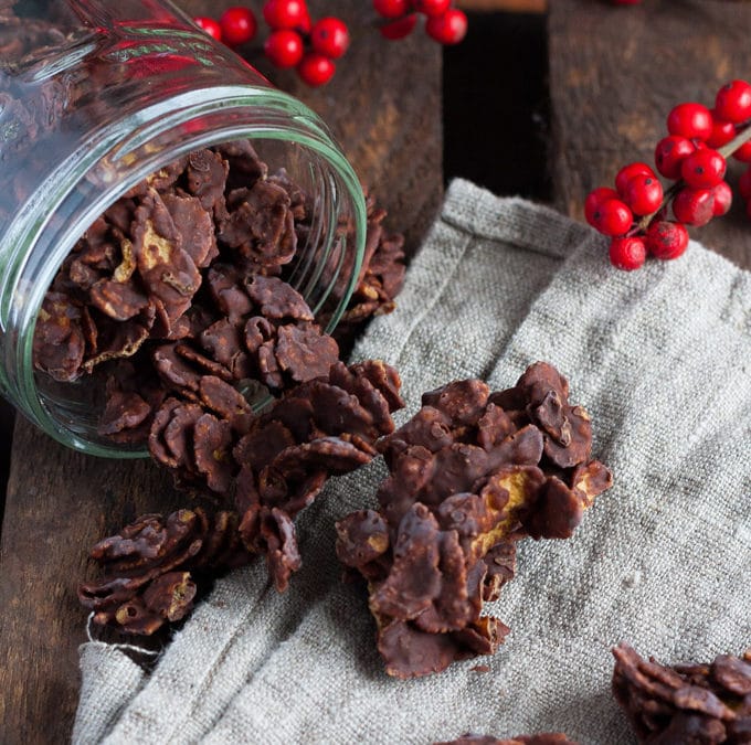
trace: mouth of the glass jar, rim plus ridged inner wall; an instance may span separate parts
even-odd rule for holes
[[[325,125],[302,102],[268,88],[232,85],[173,96],[94,134],[30,196],[6,234],[10,248],[0,267],[0,323],[6,366],[17,374],[0,383],[56,440],[89,455],[148,455],[145,448],[126,449],[96,435],[86,396],[70,396],[71,386],[85,386],[86,377],[55,384],[34,373],[36,317],[57,269],[84,231],[129,189],[193,150],[239,139],[251,140],[262,159],[267,150],[277,160],[274,167],[297,170],[290,175],[303,178],[315,192],[310,241],[317,242],[318,253],[298,259],[290,275],[314,312],[329,297],[345,256],[351,257],[336,305],[327,307],[326,331],[338,323],[360,275],[367,214],[360,182]],[[342,219],[353,231],[349,244],[334,252],[335,237],[347,241],[335,236]]]

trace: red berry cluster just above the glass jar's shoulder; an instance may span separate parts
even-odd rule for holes
[[[263,17],[271,33],[264,43],[266,57],[279,68],[295,67],[310,86],[328,83],[338,60],[349,46],[349,31],[338,18],[310,20],[305,0],[267,0]],[[214,39],[229,46],[252,41],[258,30],[250,8],[234,7],[224,11],[219,21],[199,17],[194,22]]]

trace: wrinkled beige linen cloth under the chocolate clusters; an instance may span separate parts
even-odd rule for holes
[[[408,402],[448,381],[512,385],[536,360],[570,380],[615,473],[574,536],[523,541],[489,610],[493,658],[399,681],[366,594],[340,582],[334,522],[374,504],[381,462],[332,480],[298,520],[289,590],[262,561],[216,583],[151,673],[81,648],[75,743],[414,743],[563,731],[635,742],[610,693],[610,649],[709,660],[751,643],[751,275],[692,243],[677,262],[612,269],[589,227],[452,183],[399,309],[355,351]],[[489,667],[483,672],[478,663]]]

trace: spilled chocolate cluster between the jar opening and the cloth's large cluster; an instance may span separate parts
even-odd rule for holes
[[[234,490],[243,514],[240,531],[251,551],[265,553],[277,589],[299,566],[292,520],[328,476],[352,471],[377,455],[376,441],[393,432],[391,412],[402,405],[399,384],[383,362],[349,368],[337,362],[328,379],[292,389],[237,440],[232,453],[240,467]]]

